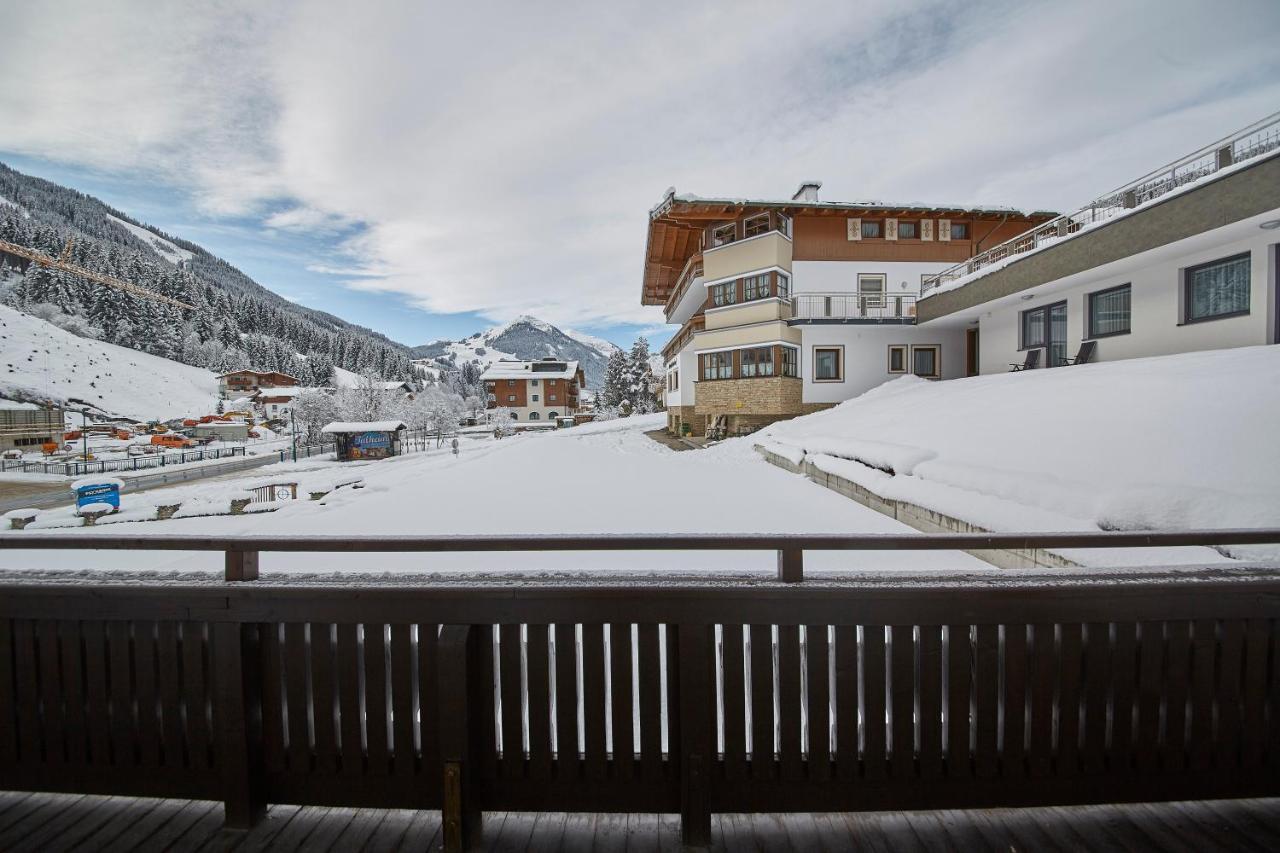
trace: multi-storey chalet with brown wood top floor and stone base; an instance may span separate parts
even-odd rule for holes
[[[641,292],[680,329],[663,347],[668,429],[758,429],[899,374],[977,373],[964,329],[922,329],[922,283],[1053,218],[1005,207],[701,199],[649,213]]]

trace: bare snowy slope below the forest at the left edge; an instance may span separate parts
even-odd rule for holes
[[[59,403],[74,397],[113,415],[169,419],[212,411],[218,378],[0,305],[0,397]]]

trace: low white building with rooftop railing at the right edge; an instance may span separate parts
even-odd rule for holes
[[[1280,342],[1280,113],[925,282],[979,373]]]

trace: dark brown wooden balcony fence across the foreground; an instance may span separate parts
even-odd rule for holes
[[[0,788],[489,809],[914,809],[1280,793],[1280,578],[1257,567],[803,579],[803,552],[1280,530],[337,539],[6,548],[774,549],[756,576],[0,583]],[[792,583],[787,583],[791,580]]]

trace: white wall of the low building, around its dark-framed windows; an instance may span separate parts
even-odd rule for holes
[[[1088,332],[1088,295],[1096,291],[1129,283],[1132,292],[1132,320],[1129,334],[1098,338],[1094,361],[1140,359],[1147,356],[1221,350],[1275,342],[1275,270],[1274,246],[1276,232],[1258,231],[1256,237],[1222,242],[1210,248],[1181,255],[1169,255],[1128,269],[1123,274],[1098,277],[1061,291],[1042,292],[1036,288],[1036,298],[1018,301],[1000,307],[991,315],[979,316],[980,373],[1004,373],[1010,364],[1021,364],[1027,353],[1019,351],[1019,324],[1021,313],[1042,305],[1066,300],[1066,350],[1074,357],[1080,341]],[[1181,270],[1242,252],[1251,252],[1249,314],[1243,316],[1181,323],[1180,293]],[[1052,283],[1048,284],[1052,287]],[[925,327],[928,328],[928,327]],[[1042,359],[1044,356],[1041,356]]]

